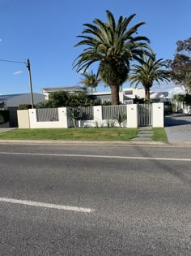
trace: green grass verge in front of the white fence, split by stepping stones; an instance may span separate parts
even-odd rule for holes
[[[168,141],[163,128],[153,128],[154,141]],[[129,141],[138,128],[40,128],[0,133],[0,140]]]

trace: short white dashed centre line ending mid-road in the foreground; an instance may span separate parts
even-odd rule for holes
[[[62,205],[45,203],[45,202],[33,202],[33,201],[18,200],[13,198],[6,198],[6,197],[0,197],[0,202],[10,202],[10,203],[16,203],[16,204],[25,205],[25,206],[37,206],[37,207],[45,207],[45,208],[52,208],[52,209],[58,209],[58,210],[74,210],[74,211],[80,211],[84,213],[91,213],[95,211],[94,209],[90,209],[90,208],[62,206]]]

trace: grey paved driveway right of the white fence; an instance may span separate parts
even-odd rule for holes
[[[191,142],[191,115],[166,115],[164,128],[169,142]]]

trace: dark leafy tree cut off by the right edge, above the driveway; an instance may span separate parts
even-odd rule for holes
[[[168,67],[171,79],[185,89],[191,91],[191,37],[184,41],[176,42],[176,54],[174,59],[168,59]]]

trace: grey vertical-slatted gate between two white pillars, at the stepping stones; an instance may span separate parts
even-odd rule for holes
[[[138,104],[138,126],[152,126],[152,104]]]

